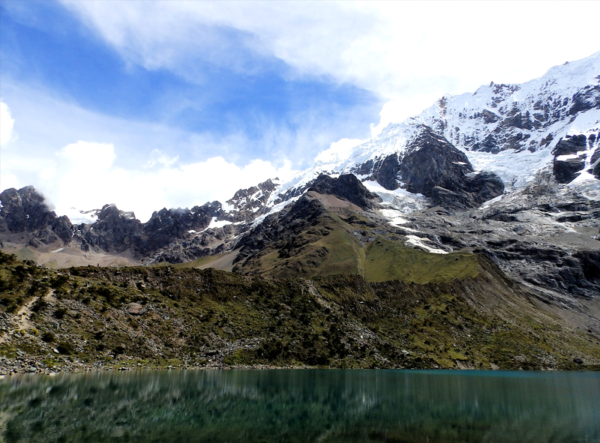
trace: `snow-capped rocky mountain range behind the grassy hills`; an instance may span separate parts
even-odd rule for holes
[[[165,208],[145,224],[106,206],[93,223],[72,225],[31,188],[7,190],[0,195],[0,234],[5,243],[38,249],[62,242],[85,251],[127,250],[144,263],[233,254],[249,235],[258,251],[265,238],[277,237],[269,230],[283,229],[278,214],[309,190],[347,200],[342,185],[316,185],[323,174],[355,175],[364,192],[381,199],[370,210],[407,245],[482,252],[509,275],[554,293],[600,292],[600,52],[521,85],[491,83],[444,96],[352,149],[323,151],[285,182],[240,190],[226,203]],[[265,220],[268,229],[260,227]]]

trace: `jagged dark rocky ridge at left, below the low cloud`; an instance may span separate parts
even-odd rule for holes
[[[235,238],[268,211],[264,202],[275,188],[268,180],[242,189],[228,202],[229,210],[216,201],[192,209],[163,208],[146,223],[105,205],[95,211],[93,223],[76,225],[48,209],[32,186],[7,189],[0,194],[0,237],[21,234],[20,243],[34,248],[75,245],[85,252],[128,252],[147,263],[181,263],[233,249]]]

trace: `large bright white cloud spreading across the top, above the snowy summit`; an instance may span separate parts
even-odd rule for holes
[[[252,72],[276,58],[291,76],[325,76],[403,100],[523,82],[597,51],[581,17],[599,2],[72,2],[129,63],[193,79],[204,60]],[[561,38],[544,39],[548,29]],[[532,55],[535,51],[535,55]],[[430,103],[430,104],[433,104]]]

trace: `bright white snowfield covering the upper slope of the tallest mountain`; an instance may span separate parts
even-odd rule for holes
[[[522,188],[552,164],[552,151],[561,139],[600,132],[600,52],[555,66],[521,85],[491,83],[474,93],[444,96],[420,115],[390,124],[352,150],[323,151],[311,168],[283,184],[277,194],[302,188],[322,172],[360,177],[367,162],[404,153],[422,125],[464,151],[476,171],[495,172],[509,189]],[[585,150],[588,168],[578,181],[593,178],[586,172],[597,163],[592,161],[592,148],[598,140],[593,140]]]

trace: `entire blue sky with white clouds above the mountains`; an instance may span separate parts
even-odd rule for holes
[[[587,57],[598,16],[575,1],[2,0],[0,190],[142,221],[225,201],[444,94]]]

